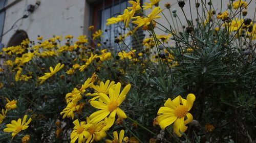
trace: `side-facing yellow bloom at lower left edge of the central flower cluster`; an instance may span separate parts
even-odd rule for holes
[[[77,105],[78,99],[72,100],[72,102],[68,103],[67,107],[60,112],[60,115],[63,115],[62,119],[68,117],[74,120],[74,111],[79,110],[80,105]]]

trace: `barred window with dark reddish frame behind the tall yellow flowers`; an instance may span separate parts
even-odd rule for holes
[[[107,26],[106,19],[109,19],[111,17],[117,17],[118,15],[123,14],[124,9],[130,6],[131,5],[128,3],[127,0],[103,0],[94,6],[93,25],[95,26],[96,30],[101,29],[102,31],[108,31],[103,32],[103,37],[101,39],[103,42],[107,43],[106,46],[119,49],[118,45],[114,43],[115,38],[127,34],[130,31],[129,27],[124,28],[123,22],[118,22],[116,24],[111,24]],[[133,25],[130,24],[131,28],[132,26]],[[139,34],[138,36],[140,39],[140,43],[142,43],[143,32],[137,32],[137,34]],[[125,38],[124,42],[128,47],[133,47],[133,49],[135,49],[136,45],[139,43],[136,42],[135,38],[132,37]],[[126,46],[123,46],[122,49],[128,51],[129,49],[126,49],[125,47]]]

